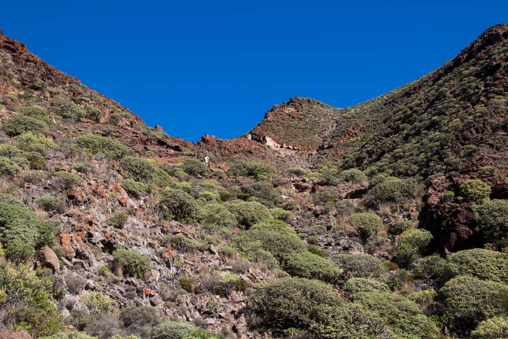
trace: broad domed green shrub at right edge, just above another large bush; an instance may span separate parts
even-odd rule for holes
[[[508,284],[508,254],[472,249],[448,256],[442,280],[465,274],[482,280]]]

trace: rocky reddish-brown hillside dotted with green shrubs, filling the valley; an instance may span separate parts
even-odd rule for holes
[[[0,337],[508,337],[507,25],[197,144],[0,59]]]

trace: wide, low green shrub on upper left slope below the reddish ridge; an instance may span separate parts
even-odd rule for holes
[[[122,159],[132,153],[132,149],[120,141],[101,135],[85,134],[75,140],[76,145],[86,148],[91,155],[101,152],[111,159]]]

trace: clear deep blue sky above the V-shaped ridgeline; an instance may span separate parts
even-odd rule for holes
[[[496,0],[18,3],[0,6],[4,34],[190,141],[239,136],[294,96],[360,103],[508,22]]]

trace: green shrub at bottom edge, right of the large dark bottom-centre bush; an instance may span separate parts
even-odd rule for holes
[[[376,313],[397,338],[438,338],[439,330],[426,316],[420,306],[403,296],[360,292],[353,295],[354,302]]]

